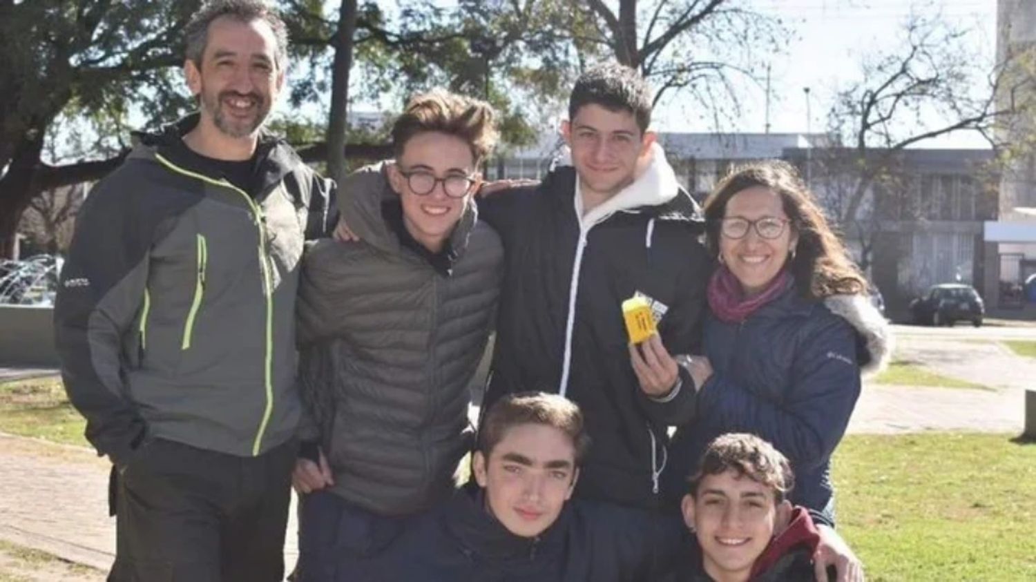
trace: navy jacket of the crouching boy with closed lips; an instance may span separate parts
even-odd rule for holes
[[[684,525],[674,518],[573,499],[539,537],[508,531],[466,487],[414,520],[349,580],[641,582],[665,579]]]

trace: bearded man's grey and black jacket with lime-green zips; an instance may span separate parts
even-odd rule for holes
[[[97,183],[61,271],[65,389],[116,465],[156,437],[250,457],[297,431],[298,266],[332,183],[265,135],[253,192],[205,175],[178,155],[197,120],[141,136]]]

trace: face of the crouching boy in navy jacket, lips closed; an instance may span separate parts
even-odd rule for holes
[[[572,497],[578,470],[572,438],[547,425],[512,427],[489,459],[478,452],[474,478],[489,512],[515,535],[535,537],[553,525]]]

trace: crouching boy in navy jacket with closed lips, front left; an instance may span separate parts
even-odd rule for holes
[[[569,500],[588,438],[557,395],[503,397],[486,414],[476,484],[412,521],[358,577],[379,582],[640,582],[659,580],[681,527],[643,512]]]

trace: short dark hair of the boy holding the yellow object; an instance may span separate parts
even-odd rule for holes
[[[639,72],[618,63],[599,64],[579,76],[569,96],[569,121],[587,105],[632,113],[641,133],[651,125],[651,88]]]

